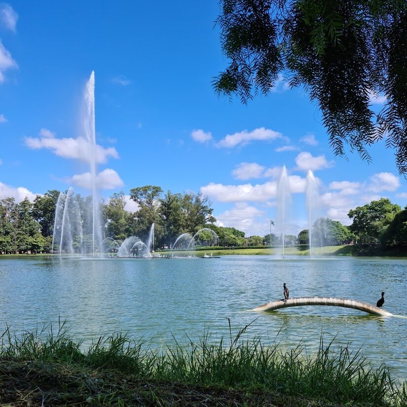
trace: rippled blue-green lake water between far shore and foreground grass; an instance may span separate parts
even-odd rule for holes
[[[67,320],[70,333],[89,342],[99,334],[129,332],[159,347],[204,329],[216,340],[257,321],[249,335],[283,346],[302,340],[318,346],[337,335],[407,377],[407,319],[381,318],[337,307],[248,311],[283,297],[339,296],[407,316],[407,259],[330,258],[276,260],[267,256],[221,259],[0,259],[0,323],[33,330]]]

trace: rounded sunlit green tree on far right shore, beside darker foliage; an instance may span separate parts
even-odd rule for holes
[[[363,242],[371,238],[379,239],[400,210],[401,207],[393,204],[388,198],[358,206],[348,213],[349,218],[353,220],[350,230]]]

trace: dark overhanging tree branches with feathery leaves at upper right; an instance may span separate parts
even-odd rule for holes
[[[221,0],[220,94],[247,103],[284,75],[322,112],[333,151],[370,160],[383,138],[407,174],[407,2],[404,0]],[[379,113],[371,95],[384,94]]]

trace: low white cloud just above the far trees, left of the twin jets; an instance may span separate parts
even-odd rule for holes
[[[259,217],[264,216],[264,212],[246,203],[237,203],[232,209],[216,215],[219,226],[235,227],[243,230],[248,235],[265,234],[265,225]]]

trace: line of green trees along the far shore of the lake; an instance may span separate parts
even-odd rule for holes
[[[14,198],[0,200],[0,254],[50,253],[55,219],[55,207],[60,191],[49,190],[37,195],[33,202],[28,198],[16,203]],[[91,205],[91,197],[75,196],[82,213]],[[124,240],[128,236],[138,236],[145,240],[149,228],[155,224],[155,247],[171,248],[178,236],[183,233],[195,234],[203,227],[216,232],[215,242],[209,232],[201,232],[197,237],[199,245],[225,247],[238,246],[279,246],[282,236],[267,234],[245,237],[243,231],[233,227],[221,227],[214,223],[212,203],[201,193],[173,193],[156,185],[145,185],[130,190],[130,199],[137,204],[137,210],[125,210],[126,198],[123,192],[113,193],[100,203],[103,224],[103,237]],[[317,219],[311,230],[314,246],[340,245],[348,243],[382,245],[407,244],[407,206],[404,210],[388,198],[373,200],[369,204],[349,211],[352,224],[345,226],[329,218]],[[83,217],[82,219],[85,219]],[[83,242],[92,244],[90,220],[82,222]],[[74,249],[81,242],[74,237]],[[301,230],[298,235],[286,235],[286,245],[309,245],[309,231]],[[83,246],[83,243],[82,243]],[[57,248],[58,249],[58,248]],[[55,248],[54,248],[55,250]]]

